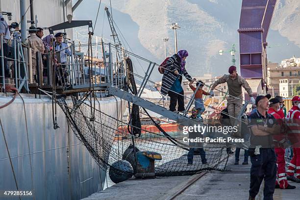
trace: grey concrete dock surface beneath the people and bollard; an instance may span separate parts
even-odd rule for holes
[[[248,200],[250,166],[250,164],[234,165],[233,155],[229,158],[226,172],[130,179],[83,200]],[[299,199],[300,183],[290,181],[289,183],[297,188],[275,189],[274,200]],[[256,200],[263,200],[263,186]]]

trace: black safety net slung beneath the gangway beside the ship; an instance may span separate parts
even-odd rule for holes
[[[207,164],[202,164],[199,153],[194,153],[193,165],[187,165],[189,146],[182,138],[152,133],[141,129],[141,136],[132,136],[127,131],[126,123],[95,109],[95,120],[91,121],[91,107],[81,103],[76,110],[71,109],[63,99],[59,105],[66,114],[75,135],[86,146],[101,169],[116,168],[118,171],[132,175],[135,170],[135,151],[154,151],[162,155],[162,160],[155,161],[155,175],[188,175],[202,170],[224,170],[228,154],[226,146],[204,144]],[[77,103],[74,100],[74,103]],[[120,109],[119,109],[120,110]],[[123,126],[122,126],[123,125]],[[132,139],[133,137],[133,139]],[[174,142],[175,141],[175,142]],[[127,165],[122,167],[121,160],[131,163],[133,171]],[[116,165],[118,165],[116,167]]]

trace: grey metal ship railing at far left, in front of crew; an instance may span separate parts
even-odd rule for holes
[[[28,54],[31,53],[31,50],[22,45],[21,42],[12,39],[9,41],[11,45],[7,44],[8,49],[5,48],[7,53],[4,52],[4,43],[8,42],[3,39],[3,35],[0,35],[0,86],[2,92],[6,91],[5,89],[7,89],[6,87],[8,85],[14,85],[19,92],[21,92],[23,88],[25,92],[29,92],[27,61]],[[9,75],[7,75],[7,72],[9,72]]]

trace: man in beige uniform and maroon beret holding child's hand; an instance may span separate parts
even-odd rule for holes
[[[235,119],[239,115],[242,106],[243,106],[243,93],[242,86],[245,88],[249,96],[251,97],[251,103],[255,104],[253,98],[252,90],[248,82],[242,76],[236,73],[236,67],[230,66],[228,69],[229,75],[224,75],[219,78],[212,86],[210,90],[210,95],[214,96],[214,89],[221,83],[227,83],[228,85],[228,94],[227,97],[227,109],[230,116],[231,125],[235,124]]]

